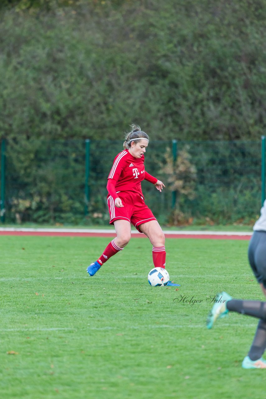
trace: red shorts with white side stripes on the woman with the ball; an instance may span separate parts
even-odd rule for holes
[[[140,194],[130,191],[120,191],[118,195],[124,207],[118,208],[114,206],[114,199],[111,196],[107,197],[110,224],[114,224],[115,220],[128,220],[142,233],[138,227],[139,225],[151,220],[157,220]]]

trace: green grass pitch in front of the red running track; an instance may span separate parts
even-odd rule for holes
[[[241,368],[257,320],[231,313],[205,327],[219,290],[263,300],[248,241],[167,239],[176,291],[148,284],[148,239],[132,238],[95,277],[85,268],[108,238],[0,239],[1,398],[265,397],[266,371]]]

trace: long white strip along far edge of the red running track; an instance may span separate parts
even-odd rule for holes
[[[49,228],[30,228],[30,227],[0,227],[0,231],[28,231],[28,232],[47,232],[47,233],[113,233],[113,229],[49,229]],[[175,235],[247,235],[251,236],[252,231],[198,231],[198,230],[187,230],[187,231],[176,231],[176,230],[164,230],[165,234]],[[137,230],[132,230],[131,234],[141,234]]]

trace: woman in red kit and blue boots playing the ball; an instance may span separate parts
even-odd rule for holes
[[[114,225],[116,237],[107,245],[102,255],[87,267],[90,276],[94,276],[111,256],[128,244],[131,238],[132,223],[140,233],[144,233],[152,243],[154,267],[165,268],[166,248],[164,233],[146,205],[142,194],[141,182],[148,180],[162,192],[164,183],[146,172],[144,154],[149,144],[149,136],[137,125],[132,125],[126,134],[124,150],[115,158],[107,182],[107,203],[110,224]],[[169,282],[168,285],[179,285]]]

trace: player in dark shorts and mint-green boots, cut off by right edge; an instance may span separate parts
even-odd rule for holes
[[[248,246],[248,260],[263,294],[266,296],[266,200],[260,210],[260,218],[253,227],[254,233]],[[238,300],[226,292],[217,294],[207,318],[207,328],[211,328],[218,318],[228,312],[238,312],[259,318],[258,327],[248,355],[242,361],[244,369],[266,369],[262,358],[266,349],[266,302]]]

